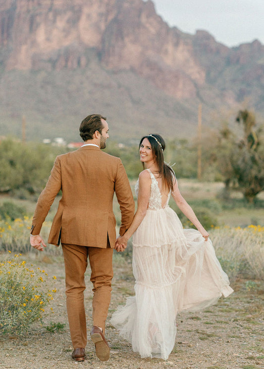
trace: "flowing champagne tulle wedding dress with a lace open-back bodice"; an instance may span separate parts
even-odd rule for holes
[[[161,206],[158,182],[152,179],[145,218],[133,234],[135,296],[119,306],[110,323],[142,358],[171,353],[176,315],[201,310],[233,292],[211,240],[199,231],[183,229],[177,214]],[[138,182],[135,186],[138,194]]]

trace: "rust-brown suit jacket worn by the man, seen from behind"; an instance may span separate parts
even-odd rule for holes
[[[130,226],[135,203],[121,160],[96,146],[83,146],[56,157],[51,175],[41,192],[32,221],[32,234],[39,234],[59,190],[62,197],[53,219],[48,242],[106,248],[107,235],[114,247],[116,193],[121,210],[120,234]]]

